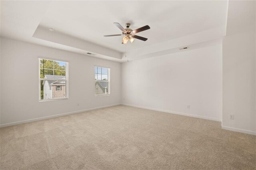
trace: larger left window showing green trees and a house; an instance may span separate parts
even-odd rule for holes
[[[39,59],[39,100],[68,99],[68,62]]]

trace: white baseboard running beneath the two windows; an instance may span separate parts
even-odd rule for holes
[[[61,116],[66,116],[66,115],[72,115],[72,114],[76,114],[76,113],[81,113],[81,112],[86,112],[86,111],[92,111],[92,110],[96,110],[96,109],[103,109],[103,108],[106,108],[106,107],[112,107],[112,106],[117,106],[117,105],[121,105],[121,104],[118,103],[118,104],[114,104],[114,105],[95,107],[95,108],[91,108],[91,109],[84,109],[84,110],[80,110],[80,111],[74,111],[74,112],[69,112],[69,113],[62,113],[62,114],[58,114],[58,115],[51,115],[51,116],[39,117],[39,118],[35,118],[35,119],[28,119],[28,120],[25,120],[25,121],[18,121],[18,122],[12,122],[12,123],[5,123],[5,124],[0,125],[0,127],[9,127],[9,126],[13,126],[13,125],[22,124],[22,123],[29,123],[29,122],[34,122],[34,121],[41,121],[41,120],[44,120],[44,119],[50,119],[50,118],[61,117]]]

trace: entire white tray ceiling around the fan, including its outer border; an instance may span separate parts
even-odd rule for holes
[[[50,27],[54,28],[56,34],[61,33],[122,53],[126,51],[126,45],[121,44],[121,37],[103,37],[121,34],[113,22],[119,22],[123,27],[130,22],[132,29],[145,25],[151,27],[137,34],[148,40],[135,40],[129,45],[132,50],[214,28],[225,28],[226,14],[225,0],[2,1],[1,36],[65,49],[56,41],[52,43],[49,40],[46,42],[44,38],[39,40],[32,37],[38,26]]]

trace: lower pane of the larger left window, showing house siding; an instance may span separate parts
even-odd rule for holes
[[[40,99],[44,100],[65,98],[66,88],[68,88],[68,83],[66,83],[66,81],[63,80],[40,80]]]

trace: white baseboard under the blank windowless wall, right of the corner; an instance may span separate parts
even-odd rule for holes
[[[168,111],[168,110],[162,110],[162,109],[155,109],[155,108],[143,107],[143,106],[128,105],[128,104],[125,104],[125,103],[122,103],[122,105],[131,106],[131,107],[138,107],[138,108],[142,108],[142,109],[149,109],[149,110],[153,110],[153,111],[160,111],[160,112],[172,113],[172,114],[176,114],[176,115],[183,115],[183,116],[189,116],[189,117],[196,117],[196,118],[207,119],[207,120],[211,120],[211,121],[218,121],[218,122],[221,122],[221,121],[222,121],[222,119],[216,119],[216,118],[212,118],[212,117],[205,117],[205,116],[199,116],[199,115],[192,115],[192,114],[188,114],[188,113],[174,112],[174,111]]]

